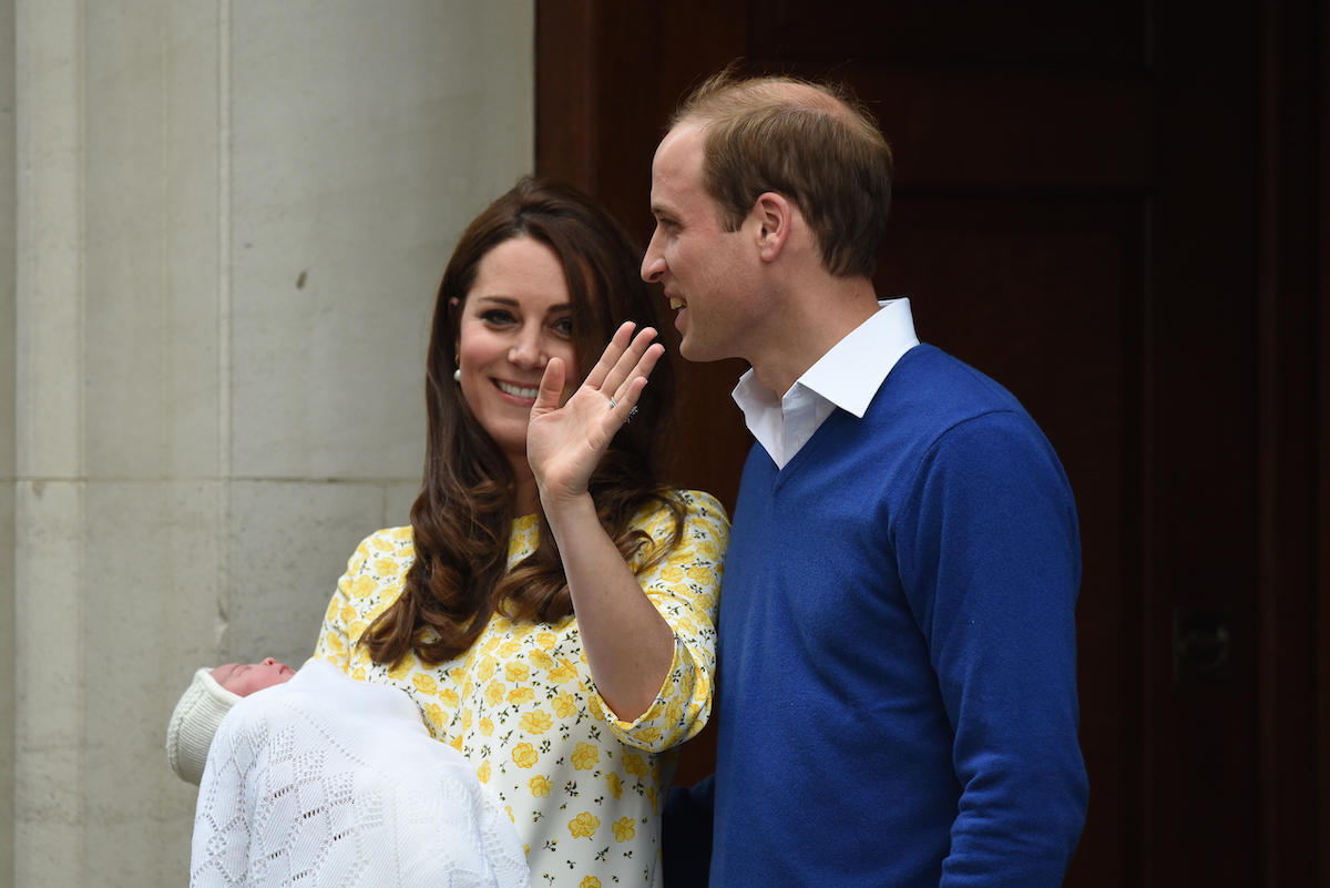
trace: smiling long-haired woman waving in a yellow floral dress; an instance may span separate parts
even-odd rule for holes
[[[710,713],[729,524],[658,480],[664,350],[616,330],[649,316],[628,239],[577,191],[523,179],[481,213],[435,304],[411,526],[351,556],[315,650],[412,695],[539,885],[661,883],[673,747]]]

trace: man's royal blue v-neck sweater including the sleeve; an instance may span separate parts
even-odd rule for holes
[[[743,469],[720,609],[713,888],[1059,885],[1085,814],[1057,456],[930,346]]]

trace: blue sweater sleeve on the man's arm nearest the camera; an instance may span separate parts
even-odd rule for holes
[[[1069,485],[1043,433],[1015,412],[948,429],[916,479],[902,580],[962,788],[942,885],[1060,885],[1087,804]]]

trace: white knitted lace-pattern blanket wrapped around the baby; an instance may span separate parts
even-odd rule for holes
[[[527,888],[507,812],[400,690],[309,661],[239,701],[198,791],[192,888]]]

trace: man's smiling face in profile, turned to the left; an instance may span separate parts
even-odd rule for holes
[[[669,132],[652,164],[656,231],[642,279],[660,283],[674,308],[680,354],[689,360],[745,356],[757,307],[757,250],[745,231],[725,231],[702,183],[702,130],[688,121]],[[751,247],[751,249],[749,249]]]

